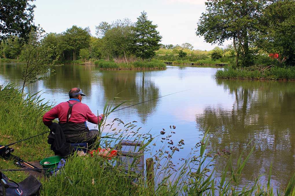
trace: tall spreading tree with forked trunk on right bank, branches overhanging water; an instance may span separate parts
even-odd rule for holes
[[[253,63],[250,46],[254,45],[258,32],[258,19],[266,5],[264,0],[208,0],[206,12],[202,14],[196,35],[204,36],[205,41],[222,45],[232,39],[236,52],[236,65],[240,54],[242,66]]]

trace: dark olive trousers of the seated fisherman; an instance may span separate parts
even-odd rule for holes
[[[65,139],[69,143],[88,143],[88,149],[93,148],[97,137],[99,136],[99,131],[96,129],[91,129],[89,131],[73,131],[64,132]]]

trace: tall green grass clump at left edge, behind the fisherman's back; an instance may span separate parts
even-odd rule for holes
[[[37,96],[39,93],[21,93],[12,84],[0,85],[0,130],[1,134],[13,135],[15,140],[28,138],[48,130],[42,122],[42,116],[50,109],[48,102]],[[32,144],[40,138],[26,143]]]

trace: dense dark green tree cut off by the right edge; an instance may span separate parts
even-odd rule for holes
[[[261,18],[259,48],[278,53],[280,62],[295,66],[295,1],[280,0],[266,7]]]

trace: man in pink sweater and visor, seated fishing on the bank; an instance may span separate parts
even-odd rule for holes
[[[43,123],[50,126],[52,120],[58,118],[59,125],[68,143],[88,143],[91,146],[96,141],[99,134],[98,130],[89,130],[86,125],[86,120],[90,123],[98,124],[104,115],[94,115],[88,105],[81,103],[82,96],[85,94],[81,88],[72,88],[69,92],[70,100],[62,102],[43,116]]]

